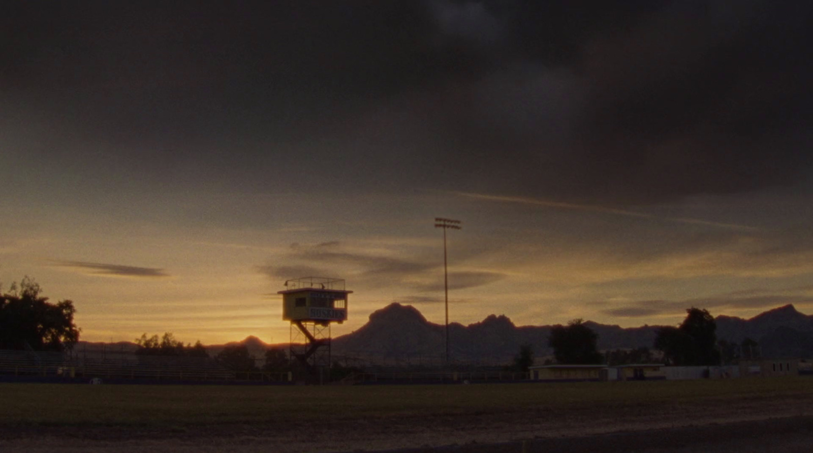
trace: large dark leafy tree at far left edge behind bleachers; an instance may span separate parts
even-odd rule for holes
[[[0,349],[63,351],[79,341],[73,302],[51,304],[41,292],[40,285],[26,276],[0,296]]]

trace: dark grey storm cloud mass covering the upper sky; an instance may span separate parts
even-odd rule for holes
[[[624,203],[811,163],[809,2],[0,8],[7,149],[83,182]]]

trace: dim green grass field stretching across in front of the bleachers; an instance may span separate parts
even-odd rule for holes
[[[438,386],[124,386],[0,384],[0,425],[189,426],[403,416],[612,411],[810,399],[813,379]]]

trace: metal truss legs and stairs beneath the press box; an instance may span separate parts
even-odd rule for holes
[[[330,323],[291,321],[291,357],[295,357],[312,377],[330,368]]]

